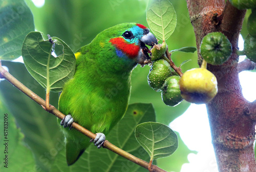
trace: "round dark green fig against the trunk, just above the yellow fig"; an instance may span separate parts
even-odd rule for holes
[[[222,65],[231,55],[232,47],[228,38],[221,32],[211,32],[203,37],[201,56],[211,65]]]

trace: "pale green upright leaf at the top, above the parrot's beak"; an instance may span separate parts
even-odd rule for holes
[[[152,0],[146,10],[146,19],[151,31],[161,40],[172,35],[177,23],[176,12],[168,0]]]

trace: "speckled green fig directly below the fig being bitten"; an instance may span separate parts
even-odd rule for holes
[[[153,62],[150,73],[147,76],[148,84],[152,89],[159,92],[166,78],[171,76],[171,69],[169,63],[160,59]]]

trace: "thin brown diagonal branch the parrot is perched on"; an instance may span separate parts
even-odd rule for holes
[[[49,113],[55,115],[56,117],[58,117],[59,119],[63,119],[65,117],[64,114],[62,114],[61,112],[59,112],[53,105],[50,104],[49,109],[46,109],[46,101],[42,98],[40,98],[39,96],[37,96],[34,92],[32,92],[30,89],[28,89],[24,84],[22,84],[21,82],[19,82],[16,78],[14,78],[8,71],[6,71],[2,66],[1,66],[1,60],[0,60],[0,78],[4,78],[6,80],[8,80],[12,85],[14,85],[14,87],[16,87],[17,89],[19,89],[20,91],[22,91],[24,94],[26,94],[28,97],[30,97],[32,100],[34,100],[36,103],[38,103],[39,105],[41,105],[46,111],[48,111]],[[72,126],[79,132],[81,132],[82,134],[86,135],[87,137],[91,138],[91,139],[95,139],[96,135],[92,132],[90,132],[89,130],[87,130],[86,128],[82,127],[81,125],[73,122]],[[103,144],[104,148],[107,148],[109,150],[111,150],[112,152],[122,156],[123,158],[130,160],[146,169],[148,169],[148,166],[150,165],[148,162],[141,160],[127,152],[125,152],[124,150],[120,149],[119,147],[113,145],[112,143],[110,143],[108,140],[105,140],[104,144]],[[165,170],[159,168],[156,165],[152,165],[152,171],[154,172],[166,172]]]

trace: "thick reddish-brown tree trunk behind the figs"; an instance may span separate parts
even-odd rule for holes
[[[206,106],[219,171],[256,171],[256,102],[250,103],[242,95],[236,54],[246,10],[234,8],[228,0],[187,0],[187,8],[196,35],[199,65],[201,40],[209,32],[225,34],[233,50],[223,65],[207,65],[218,81],[218,94]]]

